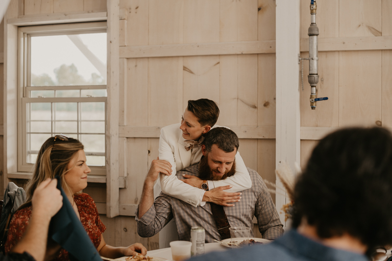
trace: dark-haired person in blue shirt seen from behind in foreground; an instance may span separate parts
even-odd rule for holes
[[[315,147],[294,189],[293,229],[265,246],[193,261],[368,261],[392,244],[392,136],[348,128]]]

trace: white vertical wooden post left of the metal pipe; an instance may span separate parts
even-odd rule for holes
[[[300,160],[300,111],[298,88],[299,0],[276,0],[276,158],[294,169]],[[282,186],[276,181],[277,186]],[[276,208],[286,198],[276,195]],[[284,214],[279,213],[285,224]]]

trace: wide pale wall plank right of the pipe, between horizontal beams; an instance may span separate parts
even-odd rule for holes
[[[339,126],[381,121],[381,51],[339,54]]]

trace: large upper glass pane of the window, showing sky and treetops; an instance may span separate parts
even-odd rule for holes
[[[106,33],[31,37],[31,86],[106,85]]]

